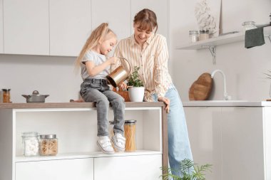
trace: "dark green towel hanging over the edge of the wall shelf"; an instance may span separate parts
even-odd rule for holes
[[[263,27],[245,31],[245,48],[253,48],[265,44]]]

